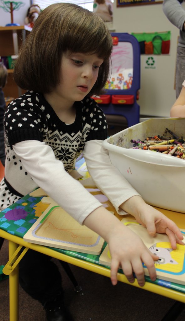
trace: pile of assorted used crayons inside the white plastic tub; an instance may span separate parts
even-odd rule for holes
[[[167,134],[171,136],[167,136]],[[154,135],[147,137],[145,140],[130,140],[133,143],[132,149],[150,150],[153,152],[161,152],[172,155],[181,159],[185,159],[185,140],[174,134],[168,128],[165,129],[163,136]]]

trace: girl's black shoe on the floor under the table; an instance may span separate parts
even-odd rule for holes
[[[46,302],[44,309],[47,321],[74,321],[64,304],[62,294],[59,294],[55,300]]]

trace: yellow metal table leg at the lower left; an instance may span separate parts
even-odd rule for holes
[[[9,241],[9,258],[19,245]],[[17,265],[9,275],[10,289],[10,321],[19,321],[19,266]]]

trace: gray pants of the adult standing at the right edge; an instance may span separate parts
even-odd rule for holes
[[[176,97],[182,89],[182,83],[185,80],[185,47],[177,47],[176,73],[175,73],[175,88]]]

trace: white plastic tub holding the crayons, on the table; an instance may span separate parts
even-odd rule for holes
[[[185,118],[154,118],[113,135],[114,144],[109,143],[110,138],[102,144],[109,151],[112,164],[146,203],[185,213],[185,159],[129,149],[133,147],[131,139],[144,140],[148,136],[163,135],[165,128],[185,138]]]

